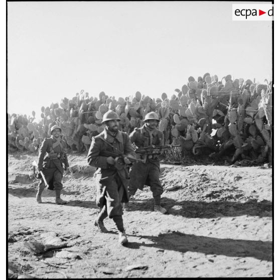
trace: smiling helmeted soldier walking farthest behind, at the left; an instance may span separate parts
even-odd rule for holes
[[[55,203],[65,204],[66,201],[60,198],[62,190],[62,176],[64,170],[69,167],[67,159],[67,145],[61,139],[61,128],[58,125],[51,127],[51,137],[45,138],[40,149],[38,156],[38,170],[42,171],[50,190],[55,190]],[[46,185],[41,179],[39,183],[36,200],[42,203],[42,192]]]

